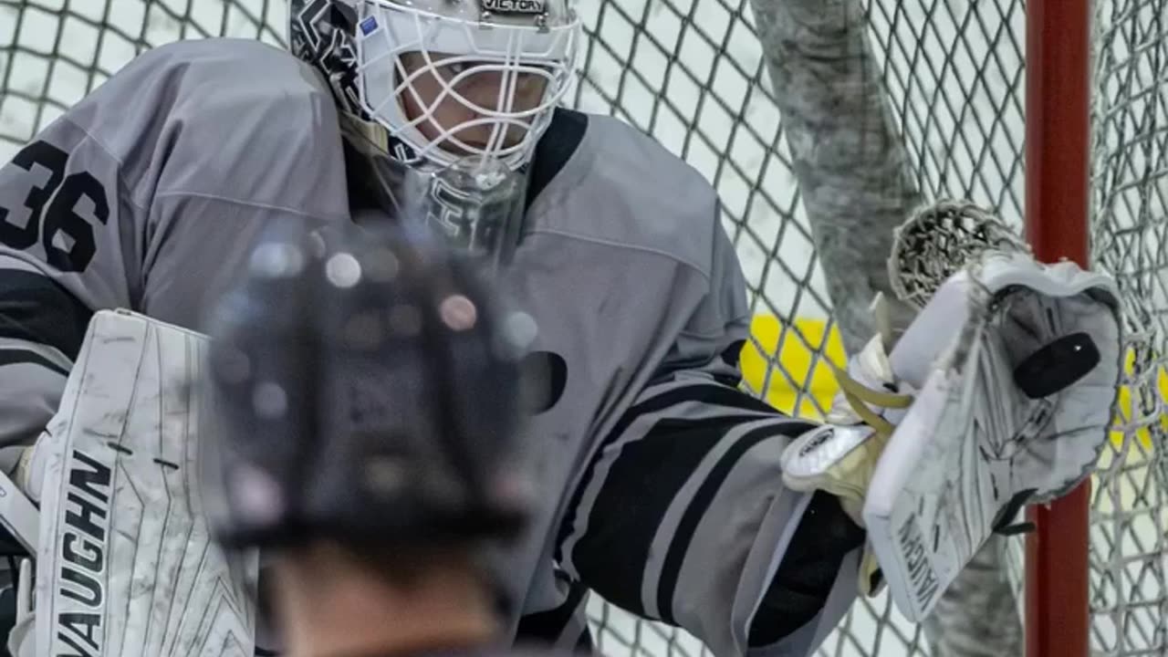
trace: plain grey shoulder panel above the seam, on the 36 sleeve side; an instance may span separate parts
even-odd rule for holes
[[[253,40],[148,50],[65,119],[118,161],[144,206],[155,194],[280,203],[287,189],[262,184],[277,178],[273,167],[341,160],[327,84],[293,55]]]

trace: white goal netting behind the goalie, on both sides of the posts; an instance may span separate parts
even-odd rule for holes
[[[821,263],[832,244],[815,247],[800,187],[808,172],[792,157],[779,111],[778,95],[798,90],[773,88],[766,53],[776,44],[758,36],[756,8],[784,1],[579,0],[589,39],[571,103],[645,130],[714,184],[757,316],[746,385],[784,410],[814,415],[832,392],[823,360],[843,353],[833,318],[855,312],[843,306],[856,300],[829,298],[832,272]],[[856,56],[880,71],[884,111],[920,198],[969,199],[1021,227],[1027,2],[821,0],[853,1],[867,33]],[[1093,14],[1085,228],[1092,263],[1120,282],[1132,340],[1111,449],[1093,478],[1089,535],[1062,539],[1090,546],[1090,570],[1065,576],[1090,581],[1093,653],[1166,655],[1168,0],[1096,0]],[[220,35],[281,43],[284,26],[284,0],[0,0],[0,161],[142,49]],[[1021,614],[1021,549],[1007,552],[1001,576],[1015,595],[973,595],[951,611],[967,614],[973,628],[987,606]],[[612,657],[704,652],[684,632],[603,601],[590,613],[598,646]],[[993,641],[993,628],[976,631]],[[877,597],[858,601],[821,653],[932,651]]]

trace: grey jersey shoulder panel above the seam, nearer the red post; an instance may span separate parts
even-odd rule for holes
[[[529,229],[652,251],[709,276],[717,193],[648,134],[613,117],[557,110],[536,167]]]

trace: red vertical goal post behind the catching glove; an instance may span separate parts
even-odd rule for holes
[[[1026,11],[1026,236],[1041,261],[1090,267],[1091,0]],[[1090,489],[1029,511],[1027,657],[1089,655]]]

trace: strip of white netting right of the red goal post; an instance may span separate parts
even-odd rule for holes
[[[1168,6],[1108,1],[1093,39],[1091,248],[1127,304],[1128,386],[1091,503],[1092,645],[1168,651]]]

